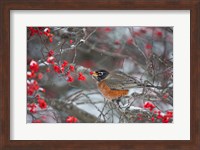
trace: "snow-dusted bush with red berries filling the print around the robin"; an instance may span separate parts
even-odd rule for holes
[[[153,86],[108,101],[99,69]],[[172,123],[173,28],[28,27],[27,122]]]

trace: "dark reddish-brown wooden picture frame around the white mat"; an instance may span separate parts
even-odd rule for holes
[[[11,10],[190,10],[190,140],[188,141],[11,141]],[[0,149],[199,149],[200,148],[200,1],[199,0],[1,0],[0,2]],[[184,64],[183,64],[184,65]],[[184,76],[184,75],[183,75]],[[184,81],[183,81],[184,82]],[[184,94],[184,93],[183,93]],[[102,132],[102,131],[100,131]],[[184,131],[183,131],[184,132]],[[116,135],[113,135],[116,136]],[[165,136],[165,135],[163,135]]]

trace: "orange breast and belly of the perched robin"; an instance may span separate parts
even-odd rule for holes
[[[128,90],[112,90],[106,85],[105,81],[98,83],[98,89],[108,100],[118,99],[119,97],[127,95],[129,92]]]

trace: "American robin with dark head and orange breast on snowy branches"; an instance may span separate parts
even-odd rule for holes
[[[137,79],[121,72],[108,72],[106,70],[98,70],[91,73],[97,80],[97,86],[101,94],[108,100],[118,100],[123,96],[129,95],[129,90],[134,87],[155,87],[153,85],[145,85]]]

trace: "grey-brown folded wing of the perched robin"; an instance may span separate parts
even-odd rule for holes
[[[141,85],[138,80],[120,71],[111,73],[104,81],[113,90],[126,90]]]

